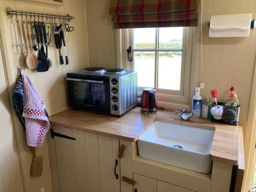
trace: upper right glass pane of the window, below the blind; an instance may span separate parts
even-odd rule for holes
[[[182,49],[182,27],[159,28],[159,49]]]

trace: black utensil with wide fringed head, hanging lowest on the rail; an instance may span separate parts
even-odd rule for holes
[[[35,32],[36,32],[36,40],[38,42],[38,45],[40,46],[40,42],[41,42],[41,48],[38,48],[38,65],[36,68],[37,72],[46,72],[49,70],[49,61],[47,60],[47,56],[44,52],[44,46],[42,45],[43,43],[43,34],[42,34],[42,26],[41,23],[34,23],[35,26]]]

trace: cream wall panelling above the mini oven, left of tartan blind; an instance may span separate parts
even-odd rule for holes
[[[116,67],[115,30],[110,0],[86,1],[90,67]]]

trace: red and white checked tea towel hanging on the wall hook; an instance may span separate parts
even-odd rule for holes
[[[24,109],[27,143],[41,146],[49,130],[49,120],[45,113],[45,103],[26,74],[23,75]]]

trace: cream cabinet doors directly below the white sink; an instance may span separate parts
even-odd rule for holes
[[[136,181],[134,192],[194,192],[194,190],[135,173],[133,174],[133,179]]]

